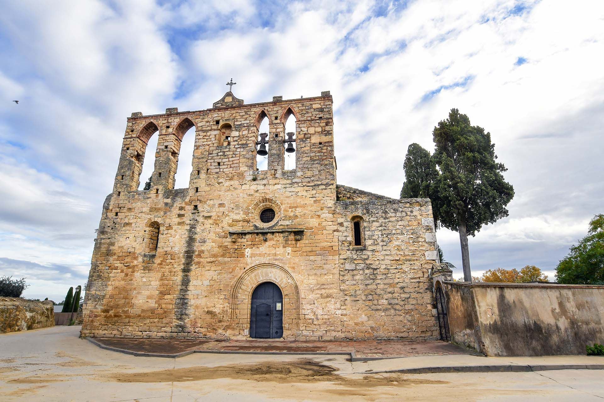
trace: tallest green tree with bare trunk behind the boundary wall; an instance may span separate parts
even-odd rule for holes
[[[495,160],[495,144],[484,128],[451,109],[449,118],[434,127],[434,160],[440,170],[432,199],[440,225],[459,232],[465,281],[472,280],[467,235],[508,215],[514,189],[503,178],[507,169]]]

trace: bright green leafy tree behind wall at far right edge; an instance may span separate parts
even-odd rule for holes
[[[559,283],[604,284],[604,214],[590,221],[587,236],[556,267]]]

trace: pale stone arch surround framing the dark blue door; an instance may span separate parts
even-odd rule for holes
[[[249,336],[252,292],[261,283],[276,284],[283,294],[283,336],[294,338],[300,321],[300,290],[292,274],[282,266],[260,263],[246,268],[231,289],[231,320]]]

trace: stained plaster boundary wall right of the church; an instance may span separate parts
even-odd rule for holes
[[[443,282],[451,341],[487,356],[585,354],[604,344],[604,286]]]

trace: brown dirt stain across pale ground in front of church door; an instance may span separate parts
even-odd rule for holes
[[[406,378],[403,374],[365,375],[362,378],[350,378],[338,375],[335,371],[336,369],[332,366],[313,362],[312,360],[297,360],[294,362],[266,362],[217,367],[196,366],[147,372],[121,372],[110,375],[110,378],[121,383],[188,382],[219,378],[281,384],[333,382],[349,388],[449,383],[440,380]]]

